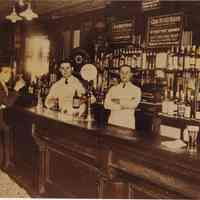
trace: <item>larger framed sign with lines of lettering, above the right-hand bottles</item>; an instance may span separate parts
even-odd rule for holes
[[[183,13],[148,18],[147,46],[180,45],[183,32]]]

